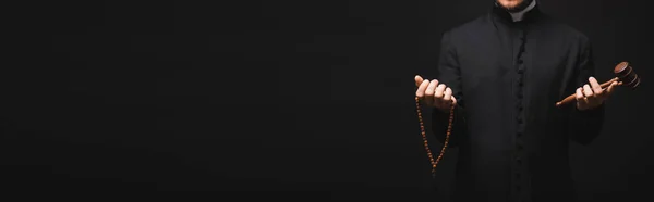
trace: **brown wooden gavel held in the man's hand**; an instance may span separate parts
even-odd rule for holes
[[[621,62],[614,68],[615,78],[601,84],[602,89],[610,86],[614,81],[618,81],[620,86],[630,87],[631,89],[635,89],[640,85],[640,77],[633,72],[633,68],[629,65],[628,62]],[[557,106],[570,103],[574,101],[576,94],[570,94],[568,98],[556,103]]]

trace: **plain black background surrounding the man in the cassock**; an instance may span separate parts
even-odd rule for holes
[[[443,31],[491,2],[8,4],[3,192],[443,201],[457,151],[432,180],[413,76],[434,77]],[[621,61],[643,79],[608,101],[593,144],[572,146],[581,199],[652,188],[645,2],[541,1],[593,40],[601,80]]]

